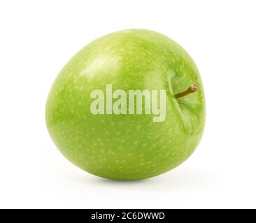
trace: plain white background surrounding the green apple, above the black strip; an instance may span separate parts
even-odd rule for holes
[[[0,1],[0,208],[256,208],[255,1]],[[57,151],[45,101],[95,38],[164,33],[190,53],[207,102],[187,162],[136,182],[98,178]]]

